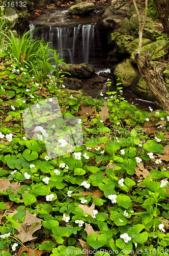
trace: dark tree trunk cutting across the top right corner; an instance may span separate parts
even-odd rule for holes
[[[168,0],[153,0],[156,5],[159,18],[162,22],[163,28],[169,38],[169,1]]]

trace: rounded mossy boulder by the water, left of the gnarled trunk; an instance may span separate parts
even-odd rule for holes
[[[111,73],[116,79],[120,78],[123,87],[131,87],[135,84],[140,75],[138,69],[129,59],[124,60],[111,69]]]

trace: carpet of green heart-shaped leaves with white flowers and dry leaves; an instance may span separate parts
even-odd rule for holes
[[[3,66],[1,255],[168,255],[168,113],[138,110],[119,81],[116,92],[94,100],[63,90],[62,73],[42,81],[26,63]],[[45,118],[53,97],[82,126],[83,141],[71,151],[53,116]],[[36,127],[48,125],[39,139],[25,133],[32,105]],[[56,157],[46,150],[50,126],[61,141]]]

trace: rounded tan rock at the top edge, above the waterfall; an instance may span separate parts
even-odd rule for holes
[[[72,5],[69,8],[69,13],[71,15],[82,15],[91,13],[95,10],[95,5],[93,3],[87,3],[87,2],[79,2],[76,5]]]

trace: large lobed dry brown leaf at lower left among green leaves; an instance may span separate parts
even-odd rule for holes
[[[32,235],[35,231],[40,229],[42,225],[36,224],[33,226],[32,224],[39,223],[41,221],[42,219],[37,218],[26,210],[25,220],[23,223],[20,223],[19,228],[16,228],[19,233],[15,234],[15,237],[18,238],[22,243],[36,239],[37,237],[33,237]]]

